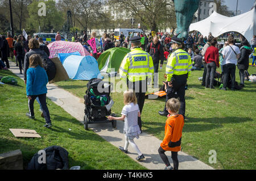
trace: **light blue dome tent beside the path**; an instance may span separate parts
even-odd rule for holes
[[[90,80],[100,77],[98,63],[92,56],[68,56],[63,62],[68,77],[75,80]]]

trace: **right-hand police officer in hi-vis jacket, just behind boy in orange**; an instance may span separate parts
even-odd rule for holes
[[[168,57],[166,65],[167,74],[167,95],[166,102],[177,96],[180,99],[180,110],[179,114],[183,115],[185,119],[185,86],[187,84],[187,79],[191,75],[192,62],[191,57],[185,50],[182,49],[182,40],[177,37],[172,37],[171,47],[174,52]],[[164,106],[164,111],[159,111],[162,116],[167,116],[168,111],[166,106]]]

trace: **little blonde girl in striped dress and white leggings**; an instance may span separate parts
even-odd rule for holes
[[[141,117],[141,113],[139,112],[139,106],[137,104],[137,99],[135,96],[135,92],[133,90],[128,90],[123,92],[123,102],[125,106],[122,110],[122,117],[112,117],[108,116],[109,120],[125,120],[125,124],[123,127],[123,133],[125,134],[125,147],[119,146],[118,148],[124,153],[128,153],[129,144],[133,147],[135,151],[138,153],[137,161],[141,161],[144,159],[144,155],[139,150],[138,146],[134,142],[134,138],[139,138],[139,134],[141,130],[138,125],[138,117]]]

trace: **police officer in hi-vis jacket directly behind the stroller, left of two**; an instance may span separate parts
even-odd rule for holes
[[[147,78],[154,73],[152,57],[141,49],[141,37],[134,36],[130,39],[131,52],[123,58],[119,68],[120,78],[127,81],[127,87],[136,94],[139,111],[142,113],[145,94],[147,91]],[[138,117],[141,129],[141,117]]]

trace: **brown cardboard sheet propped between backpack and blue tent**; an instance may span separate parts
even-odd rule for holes
[[[53,63],[56,66],[56,75],[55,78],[53,78],[49,83],[55,83],[55,82],[60,82],[60,81],[65,81],[68,80],[68,73],[65,70],[64,66],[61,64],[60,60],[58,57],[51,58]]]

